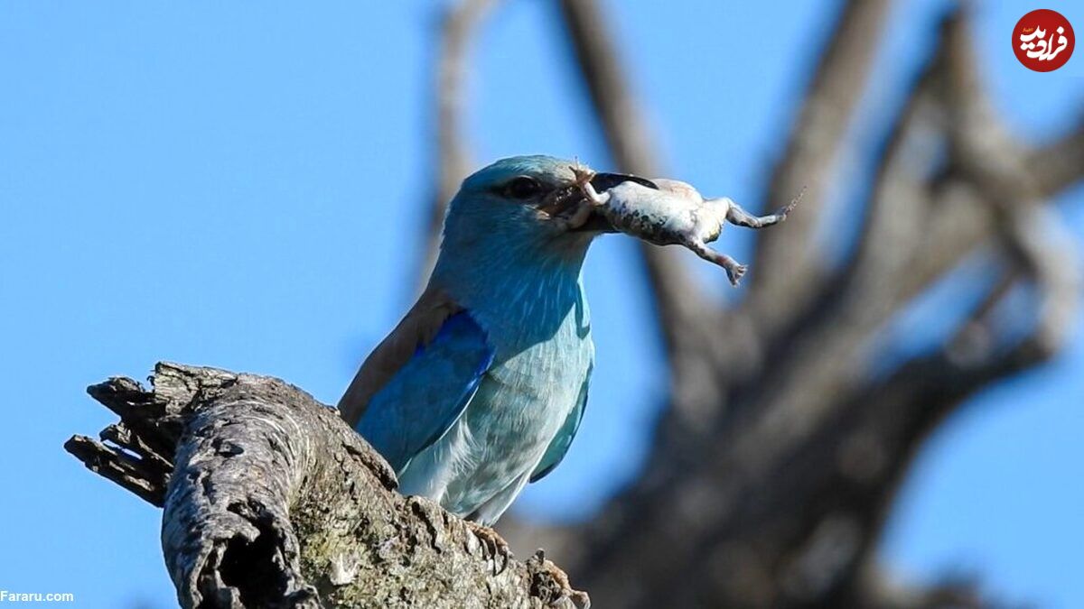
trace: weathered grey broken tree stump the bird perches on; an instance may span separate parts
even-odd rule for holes
[[[183,607],[573,607],[559,569],[491,552],[474,528],[395,491],[337,413],[281,380],[162,363],[145,390],[89,388],[120,416],[65,448],[164,506]]]

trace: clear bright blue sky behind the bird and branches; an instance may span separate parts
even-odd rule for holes
[[[670,172],[756,206],[836,2],[621,4]],[[1010,53],[1038,7],[981,3],[978,22],[999,109],[1031,141],[1084,107],[1084,56],[1040,75]],[[896,10],[864,124],[898,99],[942,8]],[[1084,31],[1084,5],[1048,8]],[[0,588],[175,605],[159,511],[61,449],[112,420],[85,386],[168,359],[333,402],[398,320],[431,183],[436,17],[416,0],[0,3]],[[479,163],[608,164],[553,26],[526,0],[489,23],[470,81]],[[1084,190],[1062,203],[1081,236]],[[630,254],[607,237],[590,256],[592,403],[566,462],[517,505],[538,518],[589,515],[641,465],[666,379],[635,332],[646,300]],[[1084,607],[1082,365],[1076,339],[938,435],[887,534],[901,574],[976,573],[1011,600]]]

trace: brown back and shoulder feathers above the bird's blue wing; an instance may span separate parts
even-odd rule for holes
[[[361,364],[350,387],[339,399],[339,415],[357,427],[369,402],[414,357],[418,346],[428,345],[444,321],[463,308],[439,289],[427,288],[391,331]]]

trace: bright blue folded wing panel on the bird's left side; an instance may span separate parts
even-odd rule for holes
[[[486,332],[460,311],[373,394],[356,429],[401,471],[463,414],[492,362]]]

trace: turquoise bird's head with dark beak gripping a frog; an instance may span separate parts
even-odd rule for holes
[[[586,223],[569,226],[567,220],[579,209],[583,194],[572,172],[575,161],[551,156],[514,156],[479,169],[460,187],[444,222],[444,249],[475,247],[538,247],[579,254],[592,237],[612,232],[602,215]],[[595,173],[591,183],[597,191],[621,182],[654,183],[622,173]]]

